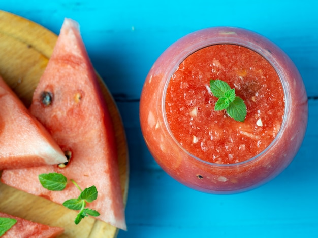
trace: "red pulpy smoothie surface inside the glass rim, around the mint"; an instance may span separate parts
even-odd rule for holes
[[[210,79],[235,88],[247,107],[244,122],[215,111]],[[165,100],[169,128],[194,156],[218,164],[246,161],[276,137],[284,116],[284,92],[275,69],[256,52],[214,45],[188,56],[173,73]]]

